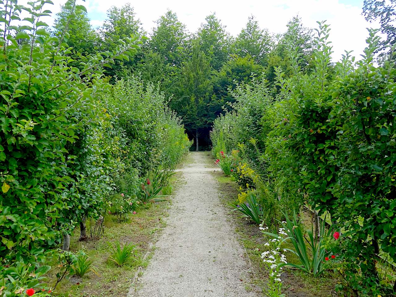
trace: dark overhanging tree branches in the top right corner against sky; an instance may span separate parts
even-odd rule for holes
[[[362,14],[366,21],[379,21],[381,32],[386,34],[386,39],[380,43],[379,51],[386,46],[392,46],[396,42],[396,0],[364,0]]]

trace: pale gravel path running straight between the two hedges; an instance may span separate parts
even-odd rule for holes
[[[208,152],[190,153],[179,169],[185,184],[172,199],[164,229],[147,270],[128,297],[255,297],[247,292],[244,250],[219,201],[216,168]]]

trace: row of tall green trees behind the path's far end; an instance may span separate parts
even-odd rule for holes
[[[208,15],[195,33],[187,32],[170,10],[156,21],[152,32],[145,32],[130,4],[110,8],[98,30],[91,27],[85,11],[77,9],[76,18],[70,22],[68,14],[66,7],[58,13],[53,34],[59,36],[66,25],[69,27],[67,43],[73,48],[70,55],[76,67],[87,54],[111,51],[120,38],[130,34],[149,36],[143,38],[141,51],[129,61],[117,61],[111,69],[105,68],[105,75],[114,82],[115,76],[140,73],[145,82],[161,82],[161,91],[171,97],[169,107],[181,116],[197,149],[198,139],[202,140],[203,149],[208,148],[211,124],[223,107],[227,108],[227,103],[233,101],[230,90],[236,84],[262,73],[274,82],[274,67],[290,73],[285,47],[291,32],[275,36],[261,29],[253,16],[240,34],[233,37],[215,14]],[[298,24],[301,67],[308,69],[313,49],[312,30],[303,27],[298,17],[290,23]]]

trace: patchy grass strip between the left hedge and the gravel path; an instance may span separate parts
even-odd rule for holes
[[[171,178],[173,190],[179,186],[181,173],[176,173]],[[69,280],[62,280],[53,295],[59,297],[124,297],[128,293],[129,286],[133,282],[135,273],[139,267],[146,268],[154,252],[153,244],[158,240],[161,230],[166,227],[165,217],[168,216],[167,209],[171,201],[153,203],[146,209],[139,209],[137,214],[129,214],[126,221],[117,222],[114,215],[105,217],[105,233],[99,239],[89,239],[79,242],[79,230],[76,230],[70,238],[70,251],[83,250],[92,261],[94,271],[88,271],[83,277],[73,276]],[[88,220],[87,220],[88,221]],[[94,223],[94,222],[92,222]],[[89,230],[89,222],[87,226]],[[126,244],[135,246],[133,250],[133,261],[125,261],[118,266],[109,260],[111,249],[109,242],[114,244],[119,241],[121,247]],[[121,249],[122,250],[122,249]],[[143,259],[144,255],[147,255]],[[50,263],[56,267],[57,263]],[[49,275],[50,285],[55,283],[55,273]],[[139,272],[141,274],[141,272]]]

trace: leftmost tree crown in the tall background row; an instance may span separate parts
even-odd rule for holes
[[[70,57],[74,61],[70,61],[69,65],[80,68],[81,62],[86,63],[89,55],[98,51],[101,47],[101,39],[97,32],[92,29],[89,18],[85,10],[76,8],[71,15],[72,7],[69,5],[62,6],[61,11],[57,13],[54,23],[53,35],[61,38],[65,29],[65,42],[70,46]]]

